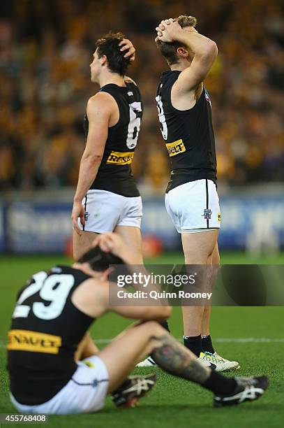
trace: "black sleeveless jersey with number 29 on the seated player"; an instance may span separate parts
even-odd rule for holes
[[[69,266],[41,271],[17,295],[8,332],[10,391],[21,404],[54,397],[77,369],[74,352],[94,318],[71,296],[90,277]]]

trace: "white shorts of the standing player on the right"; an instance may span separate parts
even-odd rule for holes
[[[165,208],[179,234],[220,229],[221,213],[213,181],[195,180],[165,194]]]

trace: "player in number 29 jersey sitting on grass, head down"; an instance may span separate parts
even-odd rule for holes
[[[112,233],[98,236],[72,267],[40,271],[20,290],[8,333],[10,399],[18,411],[91,413],[103,408],[107,394],[117,406],[130,406],[156,382],[154,375],[128,378],[147,355],[168,373],[214,392],[215,406],[264,393],[267,377],[225,378],[173,338],[157,322],[170,316],[169,306],[131,306],[127,298],[124,305],[110,305],[110,293],[117,291],[107,280],[110,264],[127,264],[129,271],[133,264],[133,253]],[[143,322],[94,355],[87,330],[108,311]]]

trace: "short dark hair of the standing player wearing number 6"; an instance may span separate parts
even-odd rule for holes
[[[108,68],[113,73],[118,73],[120,76],[124,76],[128,65],[130,64],[130,58],[124,58],[125,51],[121,52],[119,43],[125,38],[121,32],[113,34],[111,31],[105,34],[102,38],[96,41],[96,50],[98,50],[98,58],[105,55],[107,57]]]

